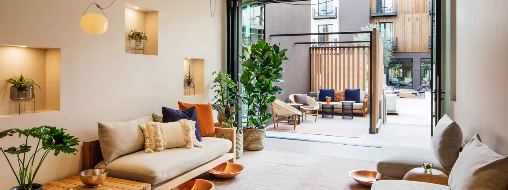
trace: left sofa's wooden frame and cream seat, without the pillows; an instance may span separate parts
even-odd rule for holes
[[[215,128],[229,139],[202,137],[203,147],[170,148],[156,153],[139,150],[106,165],[99,139],[84,141],[83,170],[102,168],[108,176],[152,184],[152,189],[171,189],[224,162],[235,162],[235,130]]]

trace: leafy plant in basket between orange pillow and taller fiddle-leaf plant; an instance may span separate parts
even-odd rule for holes
[[[212,109],[217,110],[217,120],[227,128],[236,129],[236,159],[239,159],[243,154],[243,133],[242,129],[238,128],[238,123],[235,122],[236,113],[241,110],[238,106],[238,100],[241,96],[238,94],[236,84],[231,80],[231,75],[221,73],[220,70],[214,71],[212,74],[217,74],[213,80],[215,96],[212,104]],[[221,134],[217,134],[221,135]],[[225,137],[226,138],[226,137]]]

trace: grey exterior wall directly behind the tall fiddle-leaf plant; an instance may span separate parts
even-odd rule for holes
[[[308,4],[302,2],[301,4]],[[309,36],[273,37],[270,34],[310,33],[310,6],[294,6],[286,4],[266,5],[266,41],[270,44],[280,44],[281,49],[288,49],[286,56],[289,60],[282,63],[282,80],[284,83],[274,83],[282,88],[283,94],[276,97],[289,103],[291,94],[308,94],[310,90],[310,45],[296,45],[295,42],[309,42]],[[271,110],[268,110],[271,112]],[[270,120],[269,123],[272,123]]]

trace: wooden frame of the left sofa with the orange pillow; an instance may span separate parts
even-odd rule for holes
[[[229,153],[224,154],[223,156],[217,157],[216,159],[198,166],[188,172],[182,173],[176,177],[173,177],[170,180],[167,180],[164,183],[158,184],[155,187],[151,187],[151,189],[172,189],[185,181],[193,179],[194,177],[222,164],[225,162],[234,163],[236,160],[236,130],[229,128],[217,128],[215,127],[215,133],[229,134],[229,140],[233,143],[233,146],[229,150]],[[83,142],[83,170],[93,169],[99,162],[102,162],[104,159],[102,157],[101,144],[99,143],[99,139],[93,139]],[[146,189],[150,190],[150,189]]]

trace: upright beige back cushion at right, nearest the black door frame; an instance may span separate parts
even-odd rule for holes
[[[459,158],[462,129],[446,114],[437,122],[432,137],[434,154],[441,164],[451,170]]]

